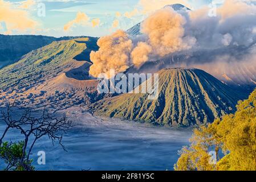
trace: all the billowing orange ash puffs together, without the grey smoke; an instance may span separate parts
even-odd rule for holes
[[[90,74],[97,77],[100,73],[109,75],[110,69],[116,73],[124,72],[131,65],[140,67],[151,57],[162,57],[173,52],[189,49],[193,38],[184,37],[185,19],[172,8],[156,11],[143,23],[140,38],[129,38],[125,31],[104,36],[97,42],[99,51],[91,52],[94,65]],[[135,46],[133,46],[135,45]]]

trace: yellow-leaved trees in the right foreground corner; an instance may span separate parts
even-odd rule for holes
[[[182,149],[176,170],[256,170],[256,90],[239,101],[235,114],[194,130],[189,147]],[[214,150],[215,163],[209,163]],[[220,153],[224,153],[221,158]]]

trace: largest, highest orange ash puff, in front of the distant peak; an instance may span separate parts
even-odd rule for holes
[[[165,56],[173,52],[191,48],[196,40],[191,42],[184,38],[184,24],[186,20],[167,7],[150,15],[142,24],[143,34],[148,36],[148,43],[153,47],[156,55]]]

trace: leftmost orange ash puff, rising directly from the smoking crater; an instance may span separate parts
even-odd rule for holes
[[[129,68],[129,56],[132,51],[132,40],[125,31],[118,30],[112,35],[103,36],[97,42],[99,51],[90,54],[93,65],[90,67],[90,75],[98,77],[105,73],[108,77],[110,69],[117,73]]]

